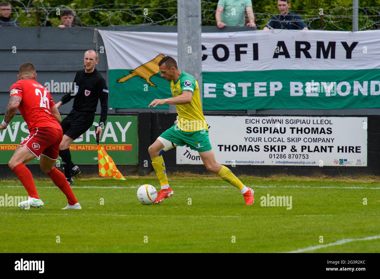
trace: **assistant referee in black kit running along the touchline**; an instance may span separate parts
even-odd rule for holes
[[[98,64],[98,54],[95,50],[87,50],[84,54],[84,70],[79,70],[74,79],[74,93],[67,93],[57,102],[59,108],[74,98],[73,109],[60,125],[63,130],[63,139],[59,146],[59,156],[65,164],[65,177],[69,184],[73,184],[73,176],[81,171],[71,161],[70,144],[93,124],[98,100],[100,99],[100,121],[96,134],[101,132],[106,123],[108,110],[108,88],[106,80],[95,69]]]

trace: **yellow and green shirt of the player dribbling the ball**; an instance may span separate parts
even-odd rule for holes
[[[178,113],[177,126],[184,132],[195,132],[202,129],[208,130],[206,119],[203,115],[199,86],[195,78],[182,71],[178,80],[170,82],[173,97],[182,94],[182,91],[190,91],[193,98],[189,104],[176,105]]]

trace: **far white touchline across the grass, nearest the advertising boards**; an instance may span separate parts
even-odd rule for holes
[[[363,186],[300,186],[300,185],[290,185],[290,186],[275,186],[275,185],[269,185],[269,186],[262,186],[262,185],[248,185],[251,188],[307,188],[307,189],[367,189],[367,190],[380,190],[380,187],[363,187]],[[71,188],[76,189],[137,189],[140,185],[132,185],[132,186],[71,186]],[[0,188],[2,186],[0,185]],[[22,185],[9,185],[5,186],[5,188],[24,188]],[[57,188],[56,186],[37,186],[37,188]],[[191,185],[180,185],[180,186],[173,186],[173,188],[233,188],[233,186],[191,186]]]

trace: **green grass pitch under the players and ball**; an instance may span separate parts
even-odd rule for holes
[[[380,252],[375,179],[242,176],[255,191],[255,203],[246,206],[239,190],[216,176],[171,174],[173,197],[147,206],[136,190],[159,190],[157,178],[126,178],[75,179],[83,209],[68,211],[61,210],[62,192],[37,179],[43,209],[0,206],[0,252]],[[1,180],[5,194],[27,192],[17,180]],[[292,196],[291,210],[261,206],[267,194]]]

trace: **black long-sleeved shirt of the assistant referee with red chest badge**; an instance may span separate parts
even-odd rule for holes
[[[100,123],[106,124],[108,111],[108,88],[106,80],[94,69],[92,73],[85,73],[85,70],[76,72],[74,79],[74,93],[67,93],[60,99],[62,104],[66,104],[74,98],[73,109],[80,112],[96,112],[98,100],[100,99]]]

